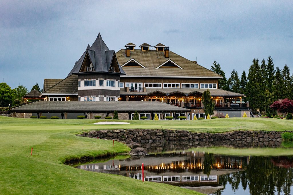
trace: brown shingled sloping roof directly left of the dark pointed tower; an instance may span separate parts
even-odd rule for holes
[[[77,93],[78,81],[77,75],[72,74],[62,81],[56,83],[50,89],[44,91],[42,95],[47,94],[75,94]]]

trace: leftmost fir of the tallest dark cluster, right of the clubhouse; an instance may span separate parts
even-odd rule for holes
[[[246,88],[246,95],[252,110],[264,110],[263,100],[260,94],[260,65],[258,59],[253,59],[252,65],[248,70],[248,82]]]

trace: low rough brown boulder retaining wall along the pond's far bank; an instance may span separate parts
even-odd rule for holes
[[[292,132],[292,131],[287,131]],[[282,134],[280,131],[232,131],[225,133],[196,133],[184,130],[161,129],[116,129],[95,130],[85,132],[79,136],[115,139],[130,143],[164,143],[164,142],[198,142],[198,143],[225,143],[236,146],[280,146]]]

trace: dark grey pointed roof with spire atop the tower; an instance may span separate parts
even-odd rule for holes
[[[93,42],[91,46],[90,45],[87,46],[86,51],[82,54],[80,59],[75,63],[73,69],[70,71],[67,77],[69,77],[71,74],[79,73],[87,54],[93,65],[94,72],[109,72],[110,64],[113,59],[113,55],[115,53],[114,51],[108,53],[109,51],[110,51],[109,48],[107,47],[107,45],[105,44],[105,42],[103,41],[99,33],[95,42]],[[120,69],[120,73],[124,74],[124,71],[121,68],[119,69]]]

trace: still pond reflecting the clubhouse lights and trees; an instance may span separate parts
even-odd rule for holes
[[[279,148],[197,147],[165,143],[148,155],[117,155],[74,166],[192,189],[204,194],[293,193],[292,144]],[[287,147],[287,148],[286,148]]]

